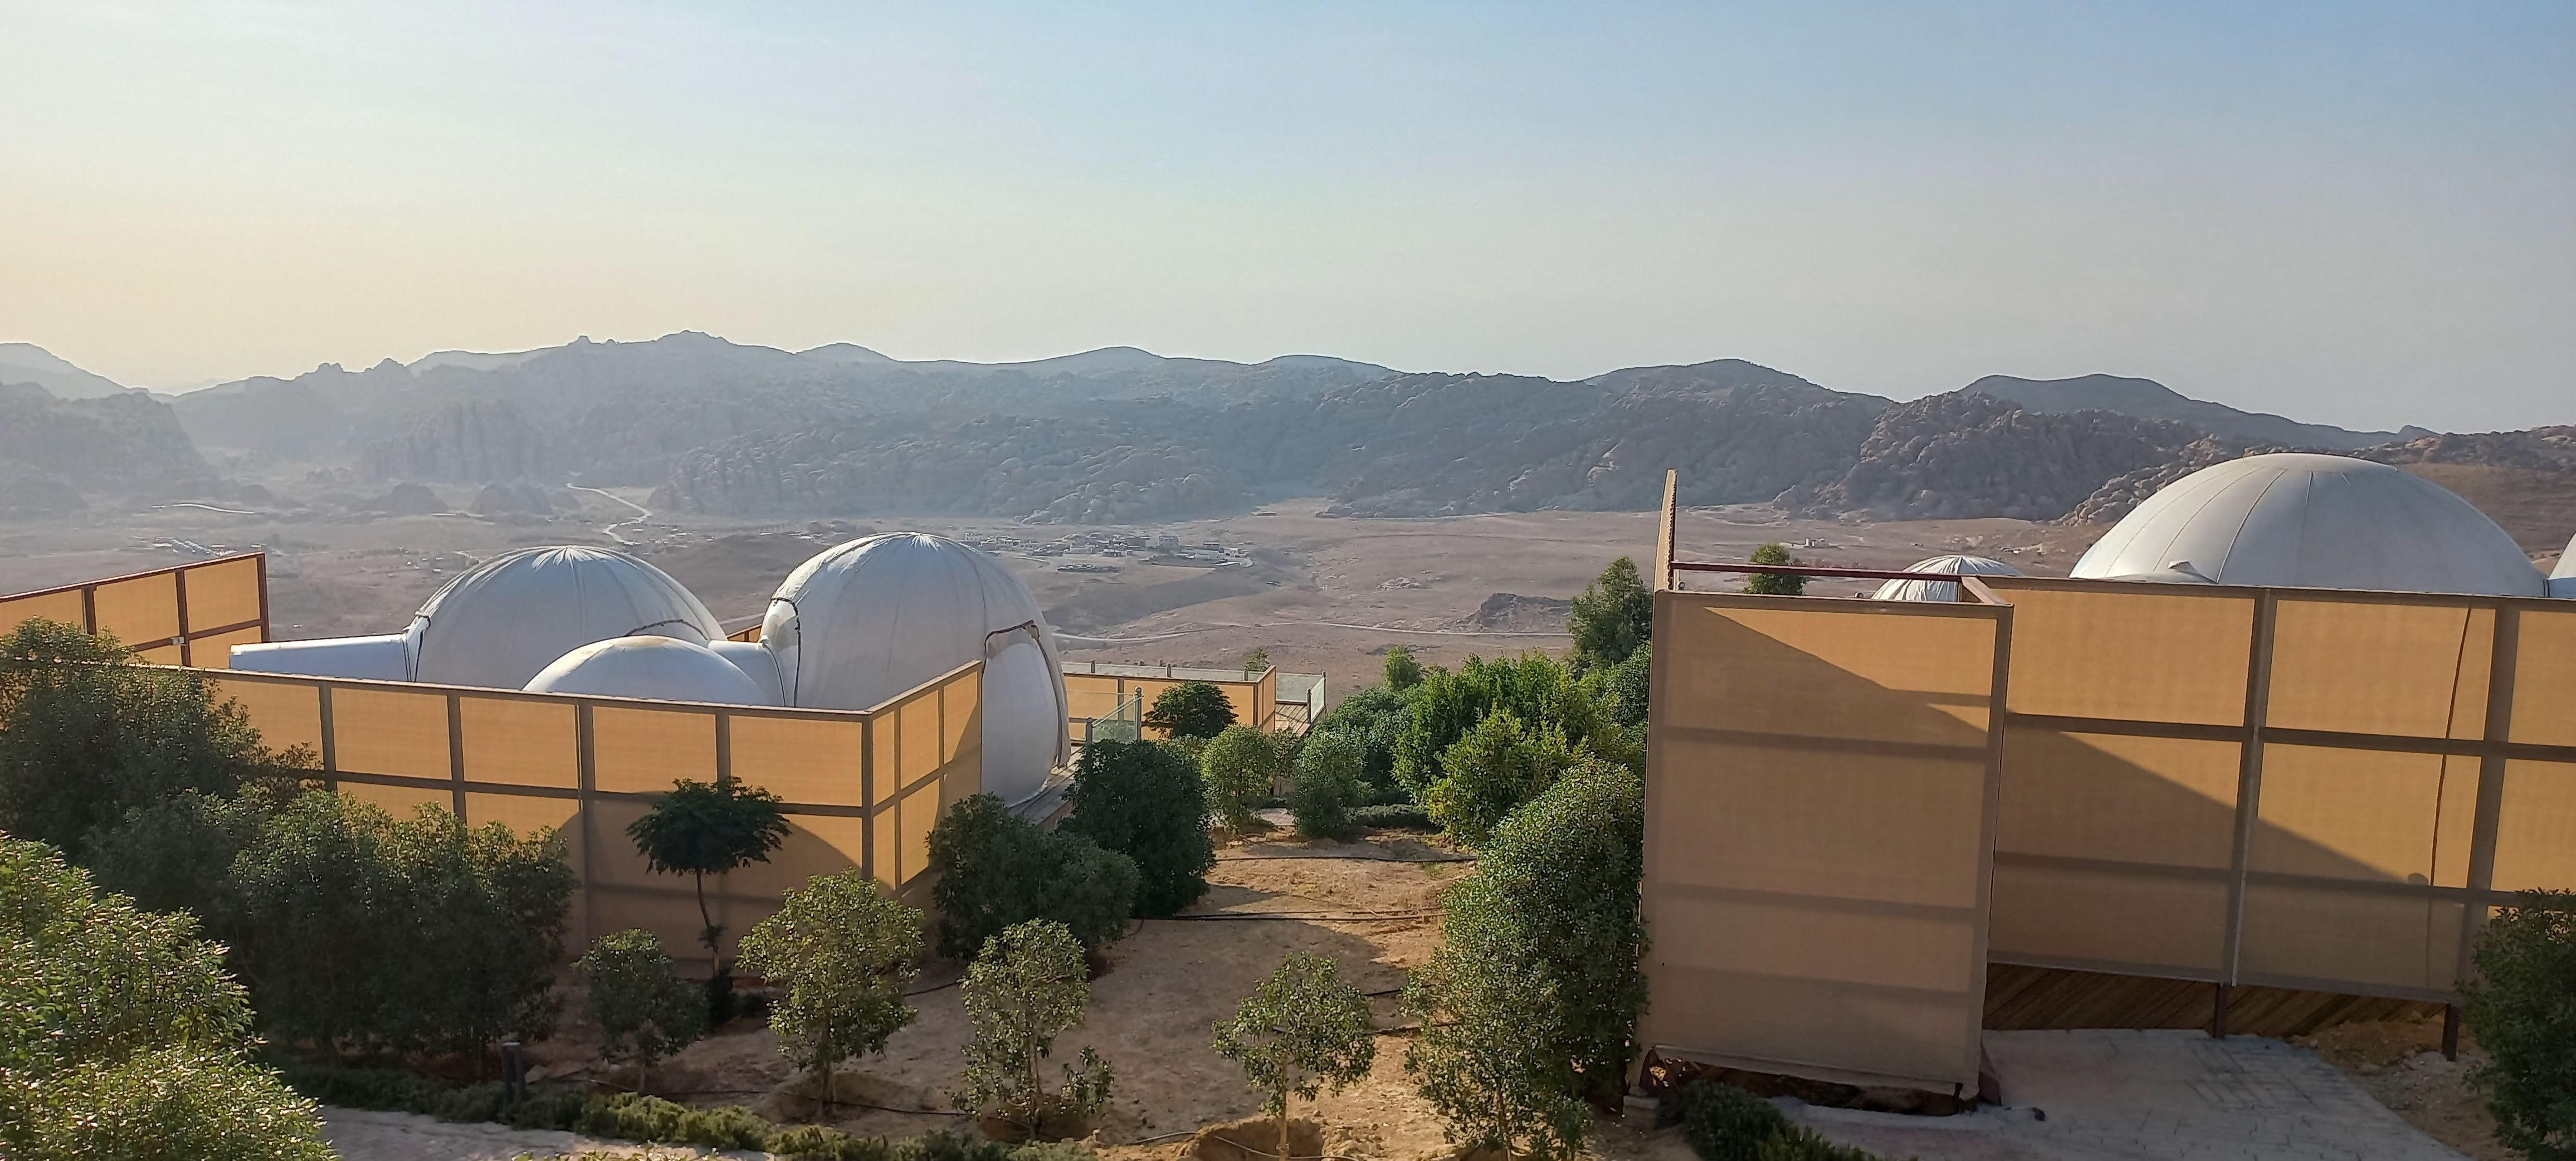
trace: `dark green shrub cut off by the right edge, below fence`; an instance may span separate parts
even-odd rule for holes
[[[2470,1081],[2496,1140],[2532,1161],[2576,1158],[2576,891],[2524,891],[2478,932],[2468,1027],[2488,1061]]]

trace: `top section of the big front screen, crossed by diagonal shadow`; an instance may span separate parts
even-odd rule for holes
[[[1672,672],[1674,726],[1862,741],[1986,744],[1994,623],[1677,602],[1656,636],[1695,664]],[[1976,659],[1976,664],[1963,664]]]

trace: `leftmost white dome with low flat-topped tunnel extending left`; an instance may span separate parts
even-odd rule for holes
[[[407,633],[234,646],[232,667],[307,677],[520,690],[592,641],[724,638],[716,615],[662,569],[608,548],[520,548],[459,574]]]

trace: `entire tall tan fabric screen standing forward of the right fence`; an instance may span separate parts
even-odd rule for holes
[[[1973,1091],[2012,610],[1662,590],[1656,1055]]]

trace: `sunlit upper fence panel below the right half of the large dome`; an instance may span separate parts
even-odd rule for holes
[[[2483,608],[2282,595],[2267,726],[2476,739],[2494,641]]]

